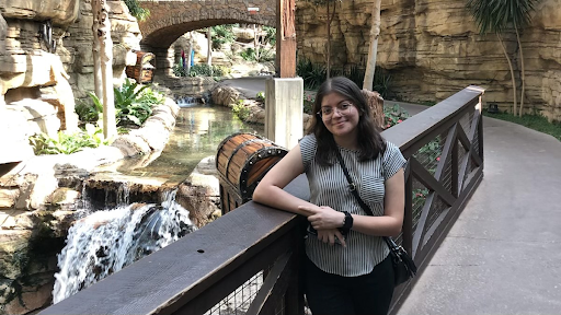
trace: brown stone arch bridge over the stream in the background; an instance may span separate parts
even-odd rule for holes
[[[144,47],[165,49],[181,35],[220,24],[276,26],[275,0],[140,0],[150,16],[140,22]],[[259,8],[250,14],[248,8]],[[158,49],[160,48],[160,49]],[[156,51],[154,51],[156,52]]]

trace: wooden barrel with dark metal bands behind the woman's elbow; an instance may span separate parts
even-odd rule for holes
[[[265,174],[288,151],[253,133],[234,133],[224,139],[216,153],[222,214],[251,200]]]

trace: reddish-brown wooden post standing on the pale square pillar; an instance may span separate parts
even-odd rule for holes
[[[295,1],[277,1],[276,61],[279,78],[296,77]]]

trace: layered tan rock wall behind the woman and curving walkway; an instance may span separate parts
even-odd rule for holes
[[[507,61],[494,35],[479,35],[463,0],[382,1],[377,65],[391,73],[394,97],[442,101],[469,84],[486,89],[483,101],[511,107],[513,89]],[[335,67],[366,66],[371,0],[337,4],[331,25]],[[527,113],[561,121],[561,0],[543,0],[522,34],[526,66]],[[324,63],[325,7],[297,2],[298,56]],[[514,34],[505,44],[519,69]],[[515,74],[520,91],[518,72]],[[519,98],[519,96],[518,96]]]

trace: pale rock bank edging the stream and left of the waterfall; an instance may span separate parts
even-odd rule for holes
[[[167,98],[152,109],[141,128],[119,136],[110,147],[88,148],[69,155],[33,156],[7,174],[0,173],[0,315],[26,314],[50,303],[56,255],[77,219],[83,191],[91,194],[105,185],[116,196],[116,187],[127,182],[131,202],[161,201],[154,196],[161,191],[162,180],[141,178],[133,183],[95,173],[115,171],[121,163],[130,168],[146,166],[163,150],[179,110]],[[110,186],[105,182],[116,184]],[[101,200],[110,195],[103,192]],[[105,209],[104,206],[110,205],[96,209]],[[190,210],[195,210],[192,213],[196,215],[196,209]]]

